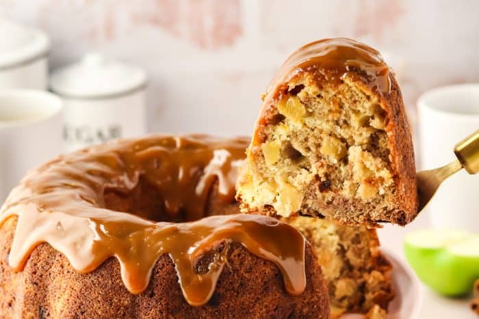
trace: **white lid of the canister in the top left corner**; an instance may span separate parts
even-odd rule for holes
[[[0,18],[0,69],[42,57],[49,48],[50,40],[43,31]]]

